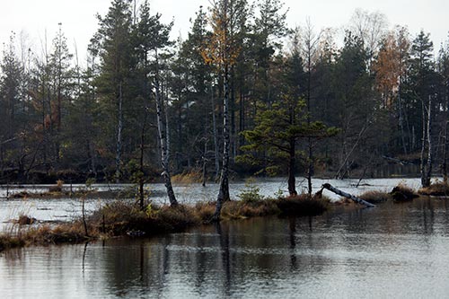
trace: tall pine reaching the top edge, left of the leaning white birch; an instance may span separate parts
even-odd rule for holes
[[[124,114],[131,104],[132,83],[129,79],[133,69],[133,49],[129,5],[129,0],[113,0],[106,16],[98,15],[100,29],[92,39],[93,44],[98,44],[96,48],[101,57],[100,75],[95,85],[107,136],[103,146],[113,153],[110,145],[115,145],[116,181],[120,179],[122,168],[124,120],[127,119]]]

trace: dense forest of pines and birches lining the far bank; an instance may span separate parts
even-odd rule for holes
[[[172,41],[147,1],[134,13],[113,0],[83,63],[62,26],[41,55],[12,35],[0,181],[143,182],[203,168],[216,179],[224,153],[237,174],[344,178],[391,157],[420,163],[423,184],[446,176],[448,46],[434,57],[425,31],[358,10],[338,47],[335,30],[288,28],[287,11],[279,0],[214,0]]]

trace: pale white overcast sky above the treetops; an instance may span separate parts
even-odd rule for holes
[[[47,31],[48,44],[57,32],[57,23],[62,22],[69,46],[75,41],[80,59],[92,34],[98,28],[96,13],[104,15],[110,0],[0,0],[0,42],[8,40],[11,31],[17,35],[26,32],[31,48],[39,50]],[[143,0],[136,0],[137,4]],[[390,27],[395,24],[407,25],[415,35],[421,29],[431,33],[435,48],[447,40],[449,31],[449,1],[427,0],[285,0],[290,9],[287,22],[290,26],[304,23],[310,17],[314,27],[342,28],[348,24],[356,8],[369,12],[384,13]],[[195,17],[198,7],[207,7],[208,0],[150,0],[153,13],[163,14],[163,21],[174,20],[172,37],[180,34],[186,37],[189,19]]]

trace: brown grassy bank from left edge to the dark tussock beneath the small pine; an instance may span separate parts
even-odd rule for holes
[[[319,215],[326,209],[325,200],[308,198],[264,199],[255,201],[229,201],[222,209],[223,219],[242,219],[257,216]],[[188,227],[210,223],[216,211],[215,202],[202,202],[195,206],[148,206],[142,211],[133,201],[118,200],[95,211],[86,218],[88,235],[82,219],[71,223],[20,229],[14,235],[0,235],[0,251],[4,249],[59,243],[77,243],[92,239],[129,234],[153,235],[172,233]],[[23,215],[19,224],[31,224],[33,219]]]

